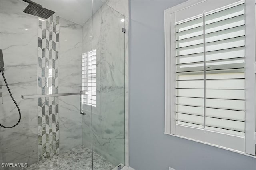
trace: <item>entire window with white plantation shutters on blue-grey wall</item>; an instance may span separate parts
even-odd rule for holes
[[[165,11],[165,133],[255,155],[254,1]]]

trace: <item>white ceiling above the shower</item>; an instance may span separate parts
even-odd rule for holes
[[[92,0],[32,0],[43,8],[55,11],[56,15],[84,25],[92,16]],[[94,0],[94,12],[103,5],[100,0]]]

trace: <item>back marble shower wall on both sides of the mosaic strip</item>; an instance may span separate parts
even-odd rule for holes
[[[30,165],[38,161],[38,100],[21,99],[21,95],[38,93],[38,17],[23,13],[28,4],[22,1],[1,0],[0,3],[4,73],[22,114],[17,127],[0,128],[0,161]],[[60,18],[59,45],[58,93],[80,92],[82,26]],[[18,110],[2,75],[0,81],[3,93],[0,121],[5,126],[14,125],[18,121]],[[60,152],[63,152],[82,143],[80,96],[59,97],[58,100]]]

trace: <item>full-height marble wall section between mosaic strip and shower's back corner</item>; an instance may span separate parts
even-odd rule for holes
[[[60,17],[59,93],[81,91],[82,26]],[[59,98],[60,152],[82,143],[80,95]]]

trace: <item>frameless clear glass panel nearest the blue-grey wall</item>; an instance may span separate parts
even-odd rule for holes
[[[92,50],[96,59],[96,87],[92,84],[96,93],[96,103],[92,105],[93,169],[110,170],[125,164],[125,34],[122,32],[125,17],[102,1],[93,3]]]

